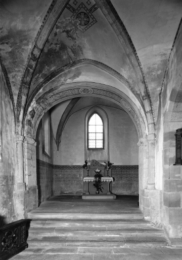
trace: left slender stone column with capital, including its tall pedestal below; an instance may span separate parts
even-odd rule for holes
[[[15,213],[16,219],[19,220],[25,217],[25,182],[24,182],[24,161],[23,161],[23,140],[24,136],[16,135],[17,148],[17,168],[15,175]]]

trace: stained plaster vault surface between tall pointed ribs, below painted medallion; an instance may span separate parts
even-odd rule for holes
[[[95,12],[98,22],[84,34],[70,23],[70,15],[64,9],[45,43],[29,94],[51,72],[81,59],[100,61],[132,81],[135,75],[128,56],[103,13],[99,9]]]

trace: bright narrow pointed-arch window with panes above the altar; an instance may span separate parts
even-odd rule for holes
[[[88,120],[88,149],[103,149],[103,120],[93,114]]]

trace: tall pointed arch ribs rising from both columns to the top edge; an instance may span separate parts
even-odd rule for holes
[[[111,27],[115,31],[116,36],[118,37],[121,45],[123,46],[125,53],[132,65],[132,68],[135,68],[135,77],[136,77],[136,87],[138,89],[138,93],[136,94],[136,98],[141,100],[142,106],[145,108],[146,116],[148,119],[148,123],[151,125],[151,133],[155,133],[155,122],[154,122],[154,114],[153,108],[150,98],[150,93],[145,81],[145,77],[143,74],[142,66],[138,55],[136,54],[136,50],[132,44],[132,41],[127,33],[126,28],[124,27],[121,19],[119,18],[117,12],[115,11],[111,1],[101,0],[95,1],[96,4],[99,6],[100,10],[103,12],[104,16],[110,23]],[[22,79],[22,84],[20,86],[20,90],[18,93],[17,99],[17,133],[22,134],[22,127],[23,127],[23,117],[26,116],[25,113],[25,105],[27,102],[27,95],[29,91],[29,87],[31,84],[32,75],[34,70],[37,66],[40,54],[43,50],[43,47],[48,40],[48,37],[57,22],[58,18],[60,17],[61,13],[63,12],[64,8],[68,1],[59,0],[53,1],[47,15],[42,22],[40,30],[38,31],[37,37],[35,39],[35,45],[32,48],[30,53],[30,58],[27,61],[27,67],[25,69],[25,73]],[[68,65],[69,66],[69,65]],[[133,88],[134,89],[134,88]]]

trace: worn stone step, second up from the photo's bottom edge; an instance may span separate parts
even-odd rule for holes
[[[29,248],[61,248],[71,247],[166,247],[168,241],[164,237],[43,237],[28,239]]]

